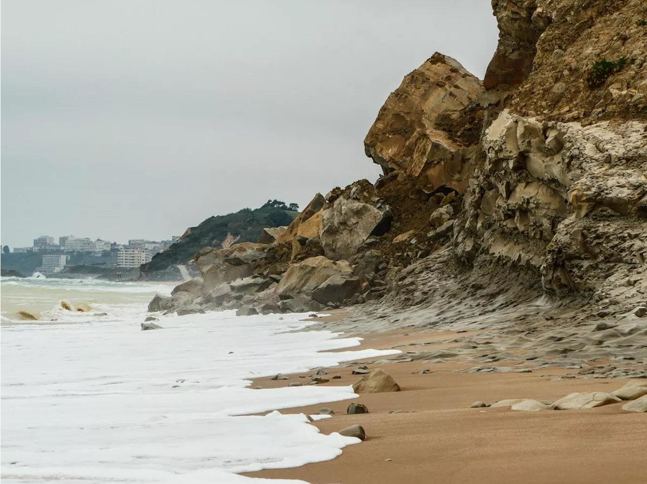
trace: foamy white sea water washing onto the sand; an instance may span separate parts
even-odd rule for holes
[[[170,316],[140,331],[150,298],[170,289],[0,281],[0,481],[255,484],[267,481],[236,473],[333,459],[359,442],[278,411],[349,399],[352,387],[252,390],[249,379],[397,351],[353,351],[359,338],[307,331],[298,314]],[[10,317],[36,309],[39,321]]]

